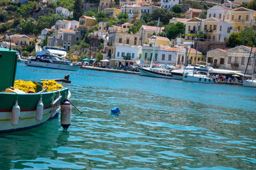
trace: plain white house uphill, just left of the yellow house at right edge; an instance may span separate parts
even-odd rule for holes
[[[232,8],[228,8],[225,6],[213,6],[211,8],[208,8],[207,10],[207,17],[206,18],[219,18],[223,21],[228,21],[227,15],[230,14],[230,11],[232,11]]]

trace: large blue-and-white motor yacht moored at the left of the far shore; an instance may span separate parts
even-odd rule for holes
[[[70,61],[60,60],[57,55],[53,54],[44,54],[37,55],[36,58],[31,58],[27,62],[28,66],[34,67],[46,67],[51,69],[66,69],[71,71],[76,71],[79,69],[78,65],[73,65]]]

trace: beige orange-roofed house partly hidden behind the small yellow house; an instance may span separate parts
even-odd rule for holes
[[[144,45],[145,42],[149,42],[151,35],[156,34],[155,26],[142,26],[139,28],[139,45]],[[164,30],[164,27],[159,27],[158,33],[161,33]]]

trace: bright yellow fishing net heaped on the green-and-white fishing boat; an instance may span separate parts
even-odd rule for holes
[[[58,84],[54,80],[48,80],[48,81],[42,81],[43,82],[43,89],[47,89],[47,91],[56,91],[59,89],[63,89],[63,86],[61,84]],[[33,83],[32,81],[23,81],[23,80],[16,80],[14,81],[14,89],[19,89],[24,92],[33,91],[33,92],[39,92],[36,91],[36,83]]]

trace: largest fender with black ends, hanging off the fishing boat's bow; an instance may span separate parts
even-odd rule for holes
[[[68,129],[71,123],[71,103],[65,99],[60,106],[60,125],[63,129]]]

